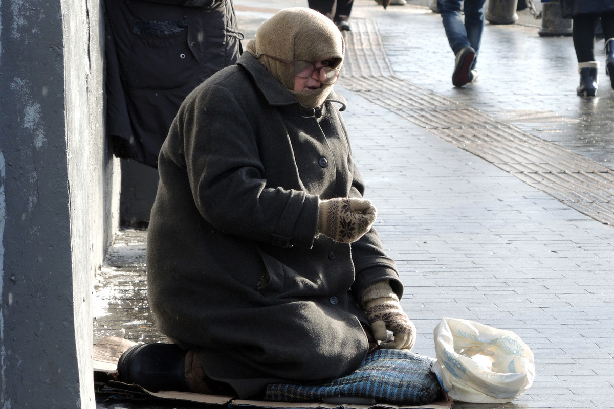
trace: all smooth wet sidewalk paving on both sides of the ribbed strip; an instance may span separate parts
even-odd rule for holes
[[[235,0],[248,39],[276,10],[305,4]],[[459,90],[438,15],[411,4],[355,4],[356,26],[375,24],[395,78],[613,169],[614,90],[603,73],[599,98],[575,95],[569,37],[487,26],[480,80]],[[455,408],[614,408],[614,227],[408,119],[407,107],[375,104],[351,81],[336,87],[348,99],[344,118],[378,207],[376,228],[405,284],[415,351],[434,356],[433,329],[448,316],[515,331],[535,353],[537,376],[519,399]],[[160,339],[147,312],[144,235],[123,232],[117,243],[99,276],[95,340]]]

